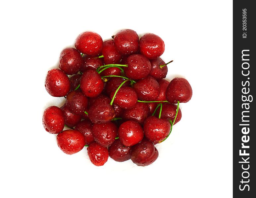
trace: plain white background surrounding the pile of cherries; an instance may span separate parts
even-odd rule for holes
[[[1,3],[0,197],[232,196],[232,1],[9,1]],[[86,30],[109,39],[129,28],[159,35],[168,79],[186,78],[191,101],[148,167],[86,149],[66,155],[42,126],[63,98],[44,88],[61,50]]]

